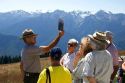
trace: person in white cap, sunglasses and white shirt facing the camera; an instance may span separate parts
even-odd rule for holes
[[[73,61],[76,56],[76,48],[78,46],[78,41],[76,39],[69,39],[67,50],[68,52],[61,58],[60,64],[73,71]]]

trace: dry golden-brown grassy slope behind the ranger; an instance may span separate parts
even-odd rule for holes
[[[49,64],[47,58],[41,59],[43,68]],[[19,63],[0,65],[0,83],[23,83]]]

